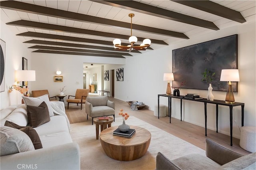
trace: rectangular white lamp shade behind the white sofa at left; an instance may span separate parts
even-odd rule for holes
[[[15,81],[36,81],[35,70],[16,70]]]

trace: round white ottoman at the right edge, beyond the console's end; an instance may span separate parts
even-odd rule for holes
[[[241,127],[240,146],[249,152],[256,152],[256,127]]]

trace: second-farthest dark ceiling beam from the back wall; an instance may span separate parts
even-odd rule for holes
[[[129,53],[119,53],[119,52],[112,52],[112,51],[99,51],[99,50],[90,50],[90,49],[78,49],[78,48],[66,48],[66,47],[52,47],[52,46],[44,46],[44,45],[34,45],[33,49],[49,49],[49,50],[56,50],[56,51],[74,51],[74,52],[83,52],[83,53],[97,53],[97,54],[110,54],[110,55],[127,55],[132,56]]]

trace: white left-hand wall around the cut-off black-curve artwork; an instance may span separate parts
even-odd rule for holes
[[[22,38],[18,38],[14,32],[15,28],[10,28],[4,22],[1,21],[1,33],[0,38],[6,43],[5,49],[5,91],[0,93],[0,110],[8,107],[9,105],[21,104],[22,94],[16,90],[12,93],[8,93],[8,89],[11,85],[15,84],[14,71],[22,70],[22,57],[28,59],[28,69],[31,69],[31,53],[26,48]],[[12,32],[14,31],[14,32]],[[28,87],[31,87],[31,83],[28,83]]]

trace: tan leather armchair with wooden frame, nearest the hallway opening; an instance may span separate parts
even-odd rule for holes
[[[78,103],[81,104],[81,110],[82,110],[82,105],[83,103],[86,102],[86,97],[89,94],[89,89],[76,89],[76,95],[72,96],[72,95],[68,95],[68,106],[69,103],[76,103],[78,105]],[[69,97],[75,97],[74,99],[70,99]]]

